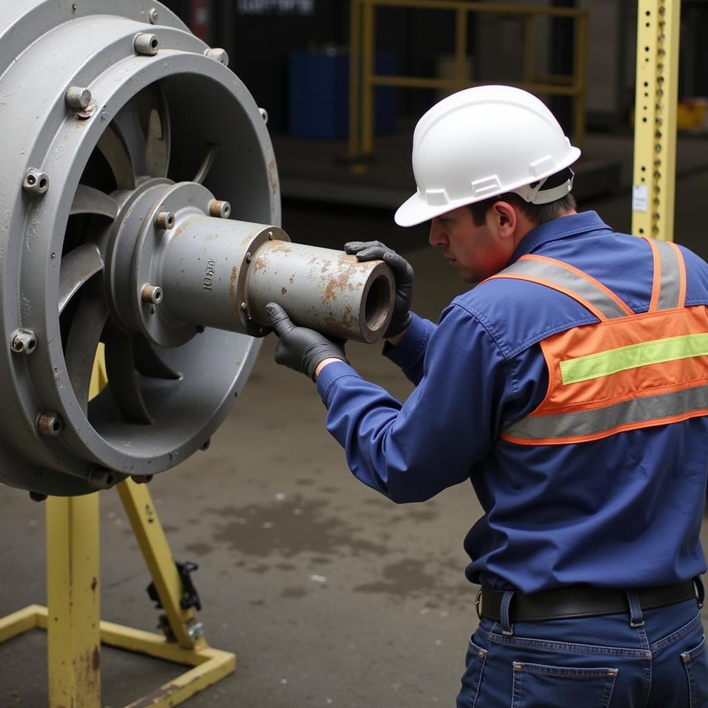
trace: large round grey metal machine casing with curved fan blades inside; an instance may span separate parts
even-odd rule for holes
[[[156,54],[136,52],[140,33],[156,36]],[[261,113],[207,48],[152,1],[0,2],[5,484],[80,494],[93,491],[97,468],[115,479],[169,469],[210,437],[246,382],[258,351],[251,336],[192,325],[169,348],[146,338],[135,290],[144,263],[122,228],[136,205],[152,209],[151,186],[159,193],[197,175],[234,217],[280,224]],[[67,103],[72,86],[91,104]],[[44,192],[23,188],[30,170],[47,176]],[[37,346],[19,356],[13,336],[25,330]],[[98,341],[107,355],[115,345],[113,384],[89,402]],[[121,381],[127,396],[116,392]],[[152,423],[135,419],[140,406]],[[56,434],[40,433],[47,416],[61,421]]]

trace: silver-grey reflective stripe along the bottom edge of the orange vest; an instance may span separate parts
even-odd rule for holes
[[[628,423],[649,423],[708,409],[708,386],[622,401],[594,411],[527,416],[505,426],[503,433],[520,440],[548,440],[596,435]],[[657,423],[661,424],[661,423]],[[608,433],[609,434],[609,433]],[[572,442],[572,441],[571,441]]]

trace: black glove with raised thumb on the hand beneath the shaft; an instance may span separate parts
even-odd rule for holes
[[[265,312],[270,317],[275,333],[280,337],[278,346],[275,347],[276,363],[307,374],[314,381],[314,370],[322,360],[347,360],[343,341],[341,344],[336,343],[314,329],[295,326],[277,302],[269,302],[265,306]]]

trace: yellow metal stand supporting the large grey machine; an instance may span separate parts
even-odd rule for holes
[[[102,350],[94,392],[105,385]],[[30,605],[0,618],[0,644],[30,629],[47,630],[50,708],[101,708],[101,644],[191,666],[125,708],[168,708],[232,673],[236,656],[210,649],[192,607],[183,609],[183,581],[147,485],[117,485],[164,607],[166,634],[101,622],[98,493],[47,499],[47,607]]]

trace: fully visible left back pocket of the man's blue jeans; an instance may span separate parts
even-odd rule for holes
[[[511,708],[607,708],[617,668],[513,663]]]

